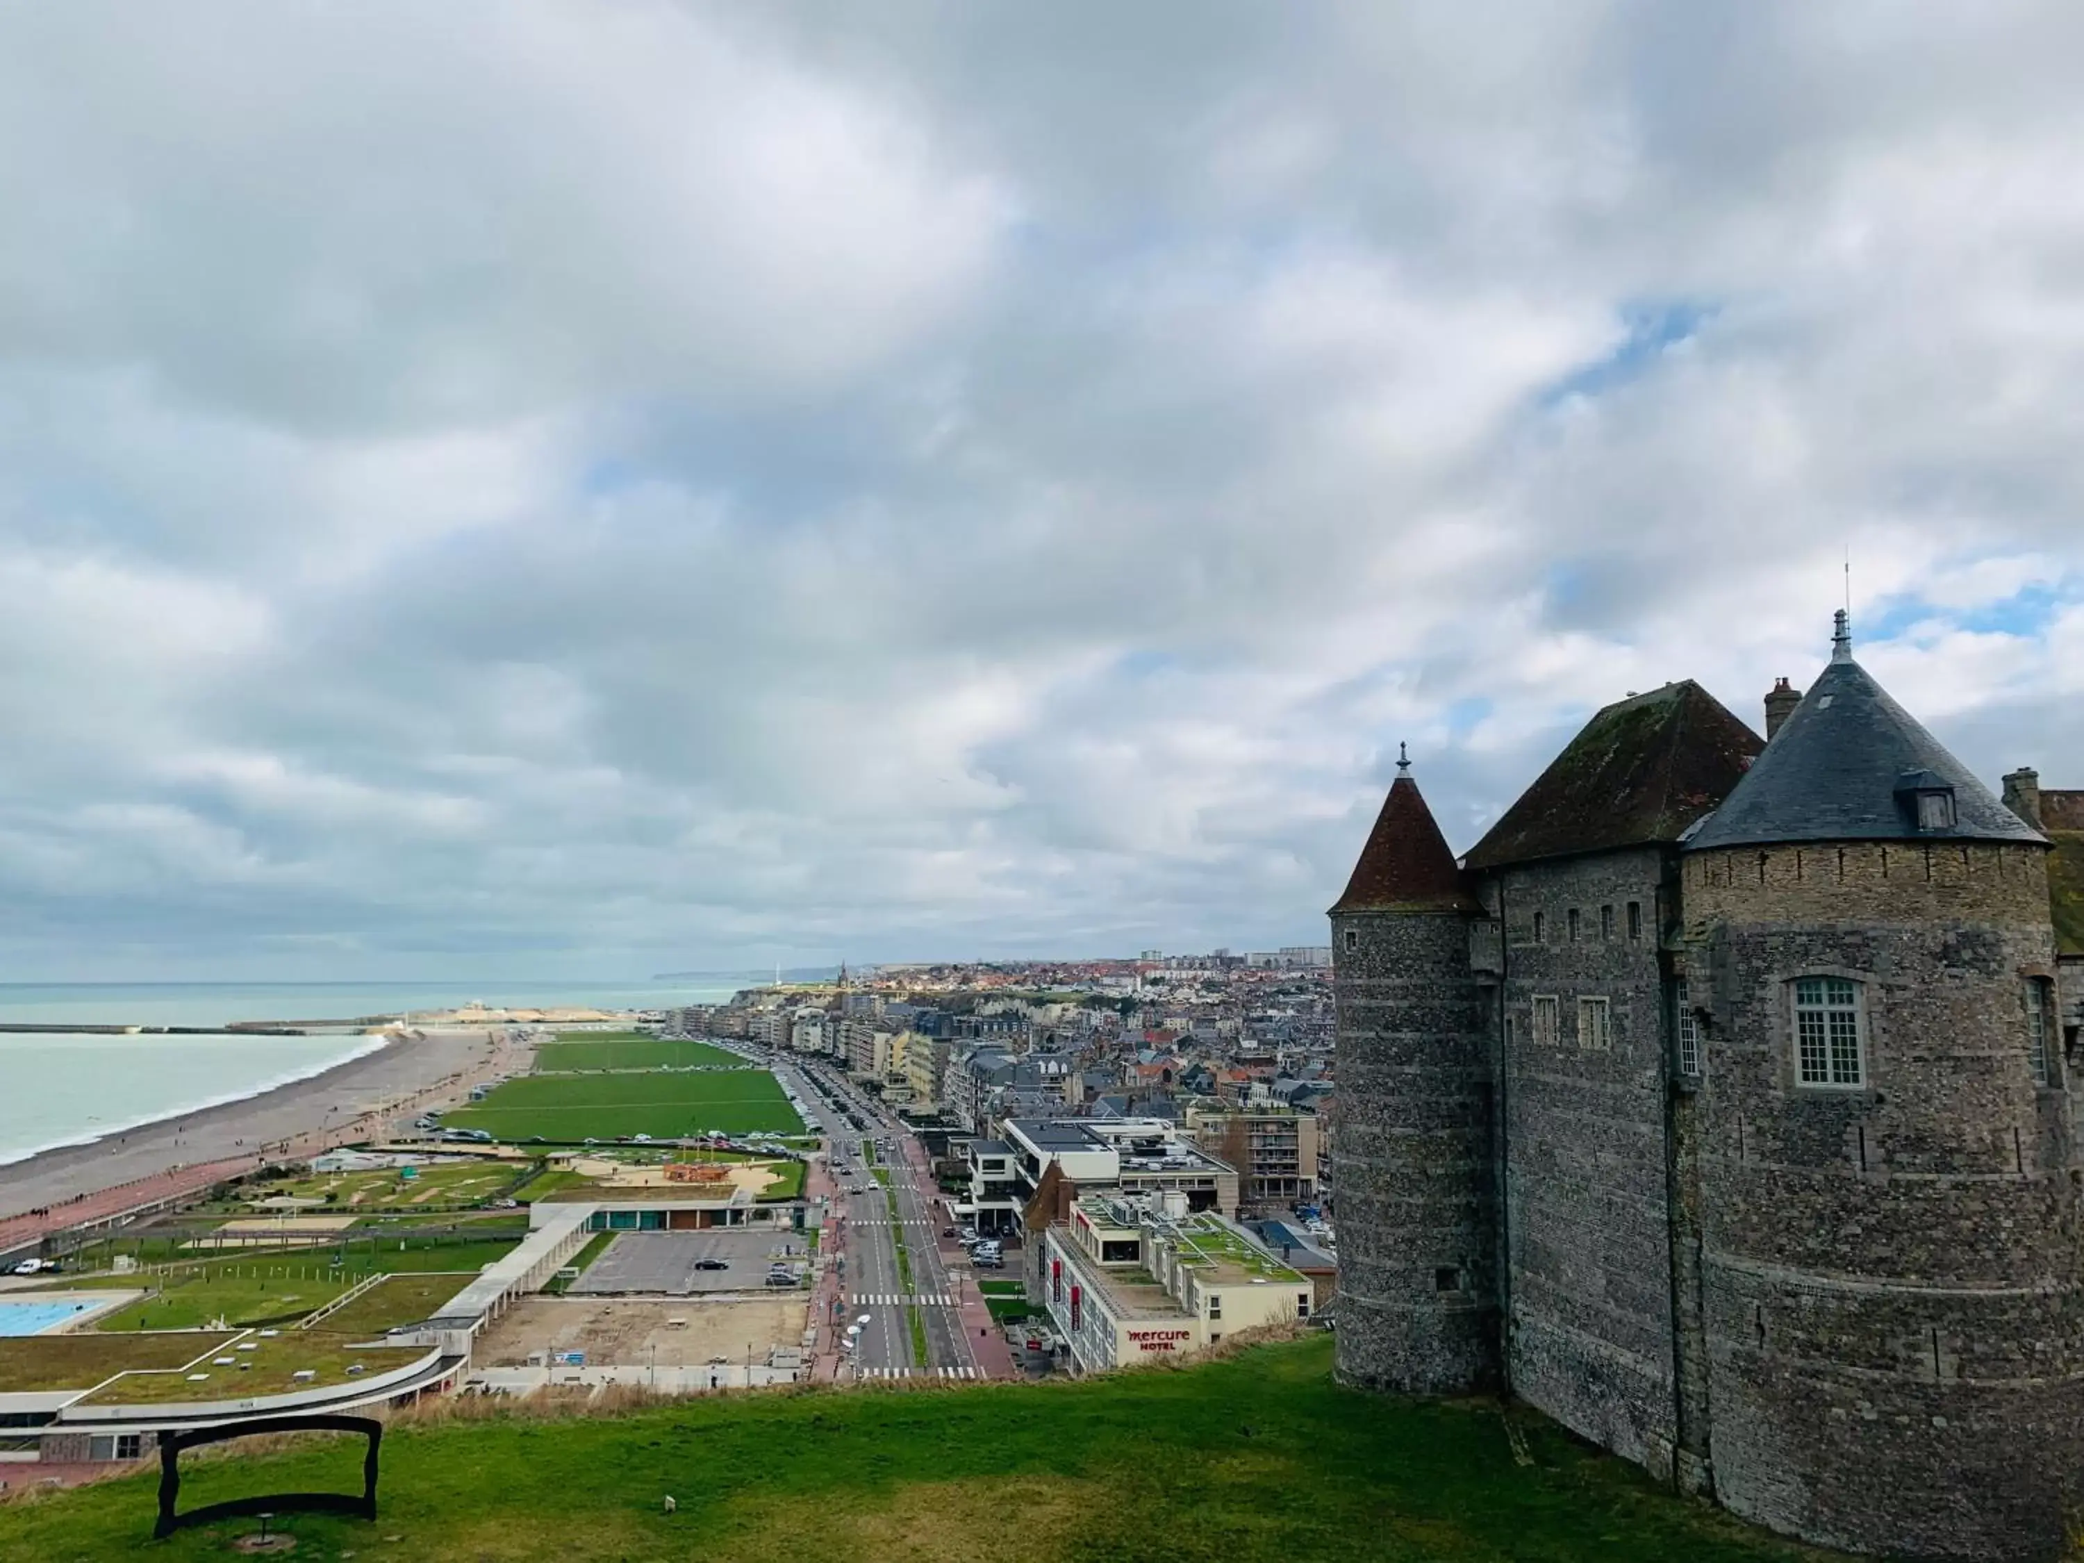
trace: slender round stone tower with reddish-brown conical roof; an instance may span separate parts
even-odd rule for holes
[[[1417,1394],[1498,1375],[1486,992],[1469,894],[1400,759],[1332,907],[1338,1378]]]

